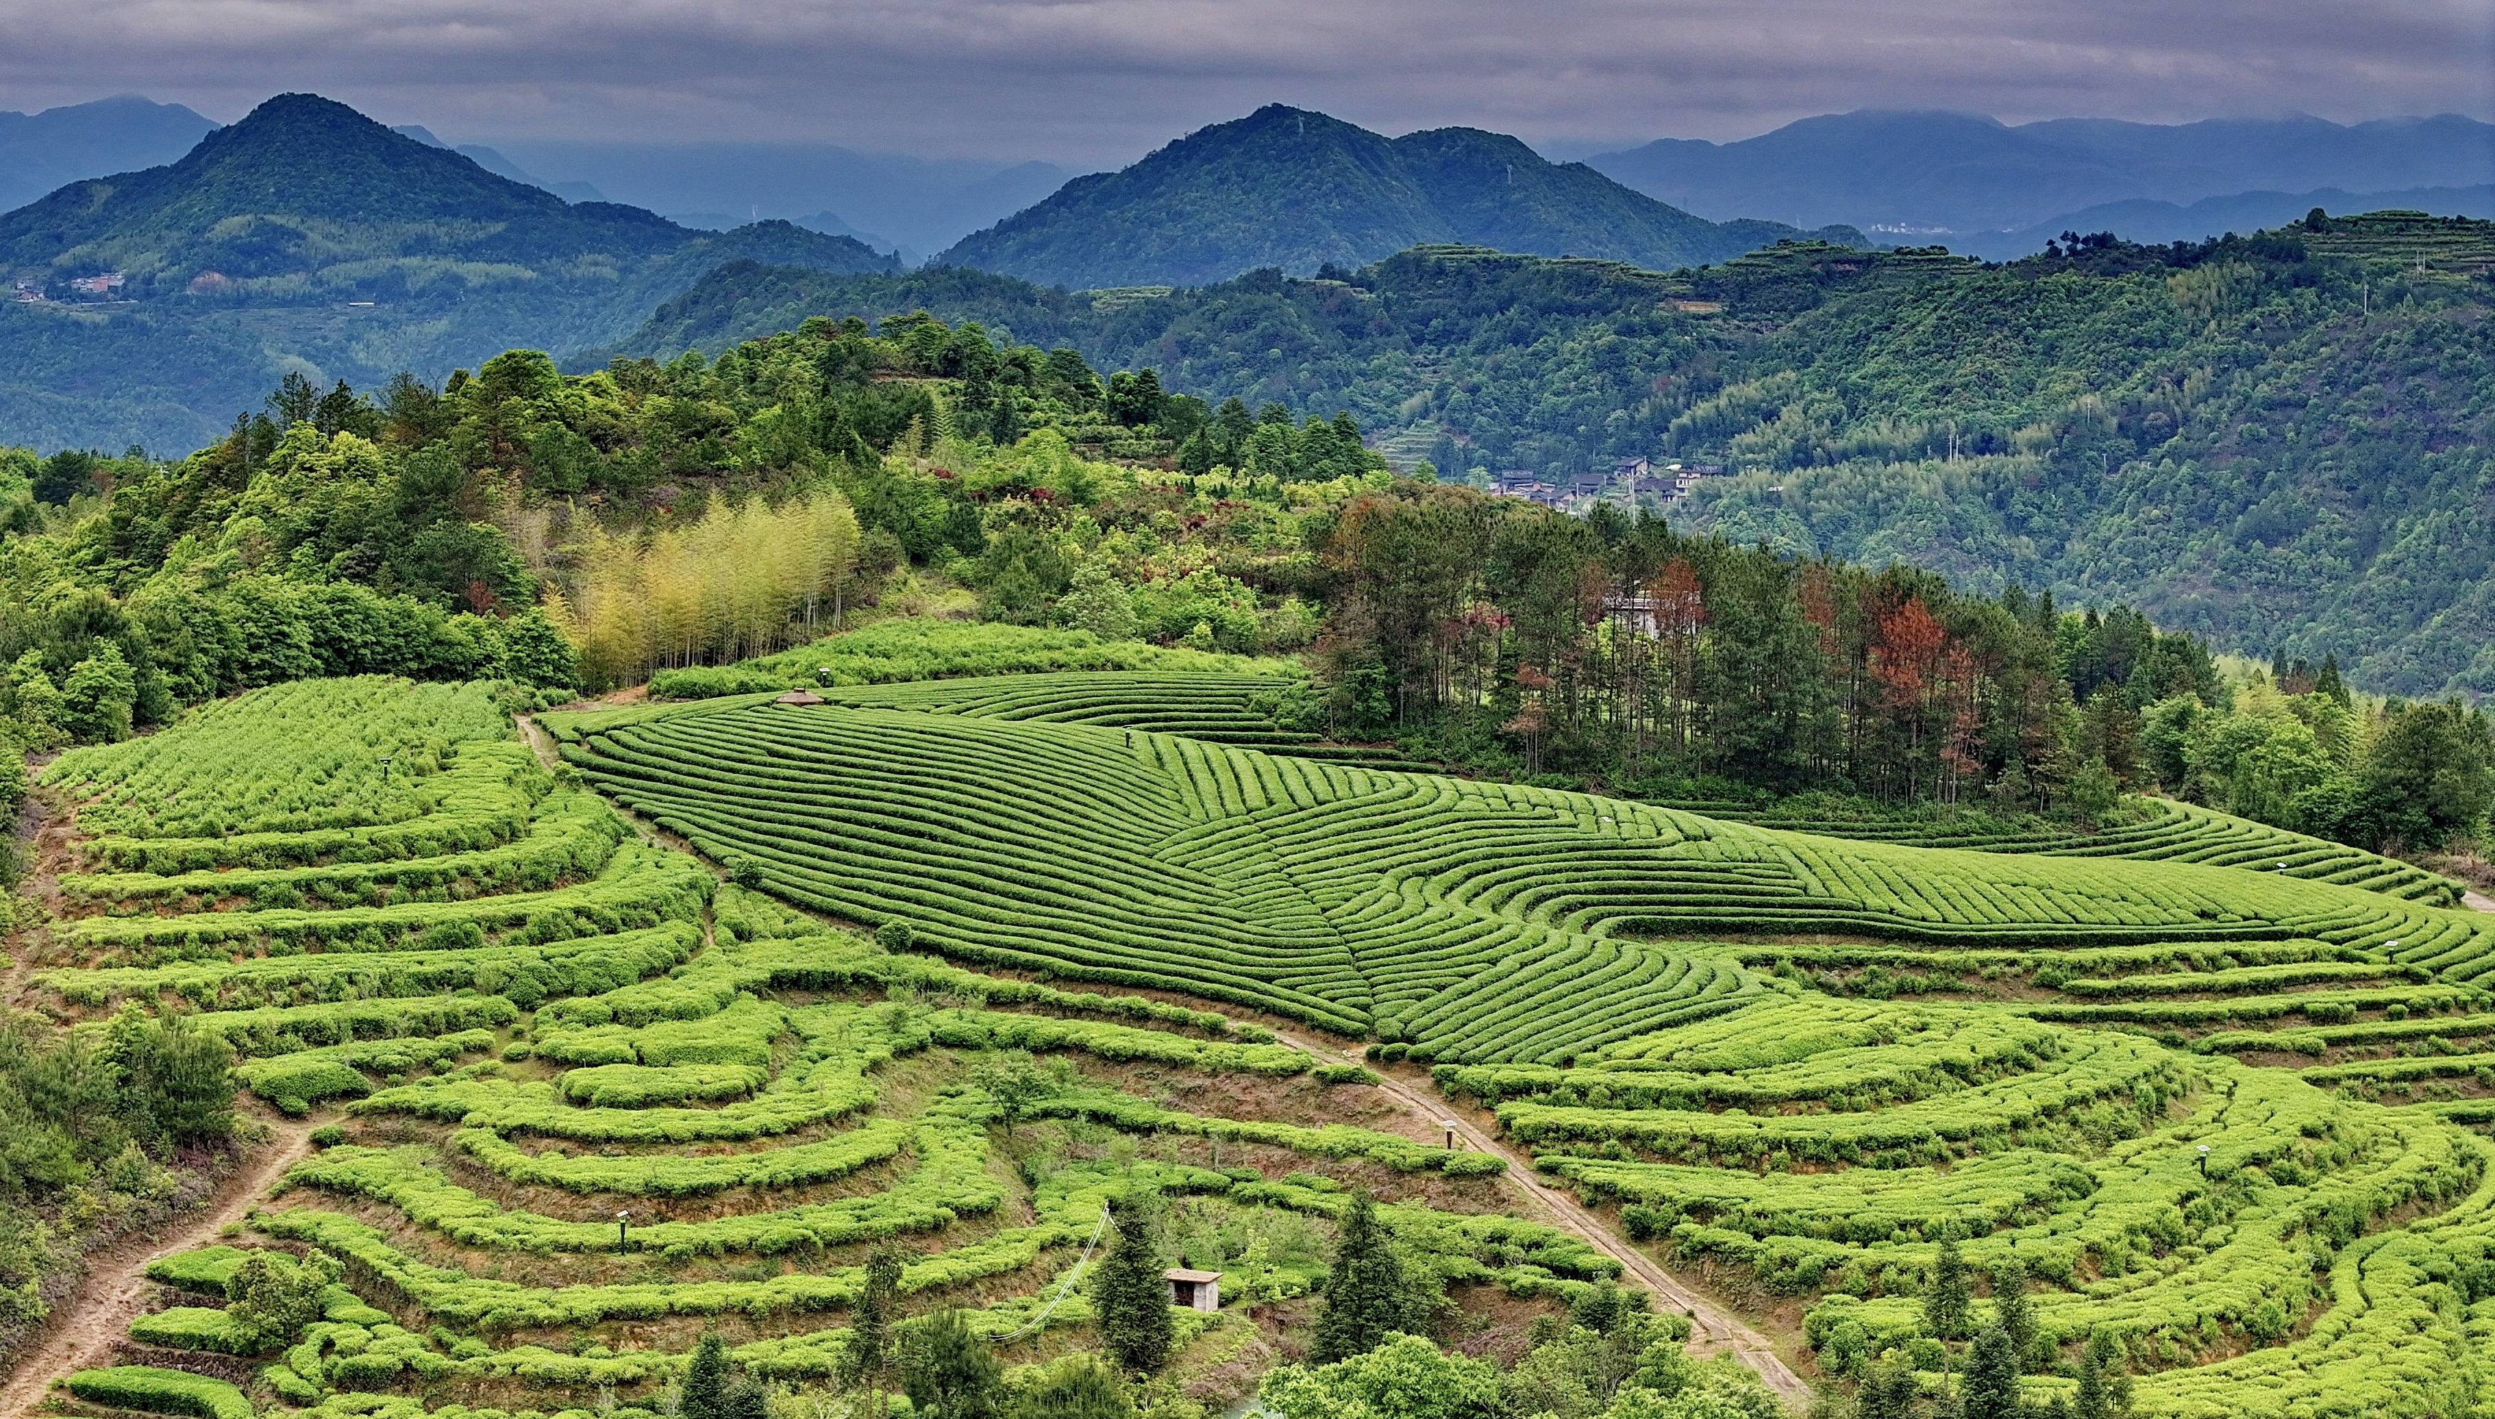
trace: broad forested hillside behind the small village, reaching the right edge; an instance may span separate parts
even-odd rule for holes
[[[2495,691],[2495,224],[2330,217],[1984,267],[1789,244],[1662,277],[1417,249],[1347,279],[1070,297],[973,272],[741,267],[626,349],[926,307],[1350,409],[1405,461],[1722,461],[1674,521],[1961,584],[2123,599],[2223,646]]]

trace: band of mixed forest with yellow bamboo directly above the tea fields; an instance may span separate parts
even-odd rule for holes
[[[2363,845],[2488,808],[2488,726],[2226,671],[2136,608],[1954,589],[1652,514],[1400,476],[1350,414],[1103,379],[926,314],[716,362],[442,389],[284,382],[180,461],[7,454],[27,746],[319,673],[611,688],[856,616],[1310,651],[1275,711],[1407,758],[1677,801],[1834,793],[2096,820],[2163,788]]]

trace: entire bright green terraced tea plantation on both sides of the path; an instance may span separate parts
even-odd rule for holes
[[[1173,1367],[1218,1399],[1350,1187],[1475,1302],[1619,1274],[1280,1025],[1836,1392],[1964,1367],[1919,1299],[1949,1239],[2026,1277],[2036,1402],[2093,1337],[2143,1414],[2495,1404],[2495,915],[2438,878],[2176,806],[1901,833],[1405,773],[1280,731],[1280,686],[556,711],[546,768],[494,686],[312,681],[62,756],[27,1003],[180,1013],[317,1147],[55,1402],[651,1419],[701,1334],[806,1392],[886,1242],[906,1314],[1038,1362],[1098,1344],[1135,1182],[1225,1272]],[[272,1274],[317,1304],[269,1322]]]

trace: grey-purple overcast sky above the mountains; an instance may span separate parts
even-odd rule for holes
[[[2490,0],[0,0],[0,107],[1128,162],[1262,102],[1562,155],[1851,107],[2495,117]]]

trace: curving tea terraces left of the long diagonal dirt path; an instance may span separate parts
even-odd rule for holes
[[[1559,1302],[1619,1272],[1499,1215],[1499,1160],[1255,1025],[886,953],[571,778],[492,688],[394,681],[259,691],[50,771],[90,833],[27,1000],[80,1030],[180,1013],[259,1107],[319,1125],[237,1234],[147,1267],[67,1397],[634,1414],[704,1332],[828,1384],[883,1242],[908,1312],[966,1307],[1035,1359],[1090,1344],[1073,1279],[1138,1182],[1228,1272],[1180,1377],[1267,1347],[1250,1307],[1305,1312],[1352,1185],[1457,1287]],[[227,1307],[245,1262],[309,1252],[339,1277],[284,1334]]]

